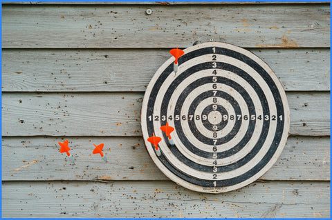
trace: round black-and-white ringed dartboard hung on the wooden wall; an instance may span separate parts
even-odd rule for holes
[[[185,188],[219,193],[246,186],[273,166],[286,144],[290,114],[282,84],[259,57],[228,43],[184,52],[177,72],[172,57],[145,92],[147,151]]]

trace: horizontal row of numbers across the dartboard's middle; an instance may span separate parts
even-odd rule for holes
[[[235,114],[235,115],[228,115],[228,114],[222,114],[221,115],[222,117],[222,120],[223,121],[228,121],[228,119],[230,120],[251,120],[251,121],[255,121],[255,120],[265,120],[265,121],[277,121],[277,118],[279,119],[279,121],[282,121],[282,115],[279,115],[279,117],[275,116],[275,115],[255,115],[255,114],[251,114],[251,115],[242,115],[242,114]],[[173,119],[176,120],[176,121],[180,121],[180,120],[189,120],[189,121],[192,121],[192,120],[196,120],[196,121],[199,121],[199,120],[203,120],[203,121],[206,121],[208,120],[208,115],[206,114],[202,114],[202,115],[199,115],[199,114],[196,114],[196,115],[193,115],[193,114],[188,114],[188,115],[178,115],[176,114],[175,117],[173,117],[172,115],[169,115],[168,117],[166,115],[162,115],[161,117],[159,115],[149,115],[148,117],[149,121],[152,121],[152,119],[154,121],[172,121]]]

